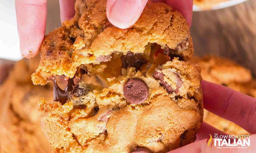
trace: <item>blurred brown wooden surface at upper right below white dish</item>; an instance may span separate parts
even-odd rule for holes
[[[195,54],[235,60],[256,77],[256,0],[219,10],[193,12],[190,32]]]

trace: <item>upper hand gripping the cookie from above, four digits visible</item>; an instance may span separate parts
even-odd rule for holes
[[[60,1],[61,22],[75,15],[75,0]],[[118,28],[128,28],[140,17],[148,0],[108,0],[107,17]],[[15,0],[20,51],[23,57],[32,58],[39,52],[45,36],[47,0]],[[152,0],[165,2],[178,10],[191,25],[193,0]],[[132,9],[131,9],[132,8]],[[26,30],[24,30],[26,29]]]

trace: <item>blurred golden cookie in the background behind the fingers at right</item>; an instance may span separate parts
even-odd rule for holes
[[[201,67],[203,80],[222,84],[233,90],[256,98],[256,81],[252,79],[251,71],[231,60],[217,56],[194,56],[190,61]],[[211,126],[227,134],[248,134],[242,127],[219,117],[204,109],[203,120]]]

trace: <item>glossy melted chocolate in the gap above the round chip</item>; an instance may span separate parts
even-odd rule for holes
[[[132,53],[132,52],[127,52],[126,55],[121,56],[122,60],[122,68],[127,68],[128,66],[130,67],[135,67],[136,70],[139,70],[142,64],[146,63],[146,60],[143,60],[142,53]]]

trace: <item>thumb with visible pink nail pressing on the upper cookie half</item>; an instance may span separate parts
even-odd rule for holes
[[[147,2],[148,0],[108,0],[108,20],[118,28],[128,28],[139,19]]]

